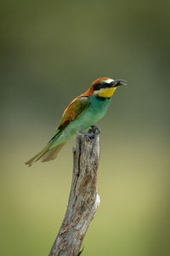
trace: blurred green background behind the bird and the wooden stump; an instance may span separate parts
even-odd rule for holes
[[[164,0],[1,1],[2,256],[48,255],[75,141],[48,164],[24,162],[102,76],[129,86],[116,90],[98,124],[101,205],[83,255],[169,255],[169,9]]]

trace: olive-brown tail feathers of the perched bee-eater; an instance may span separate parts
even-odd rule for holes
[[[64,145],[65,143],[62,143],[54,148],[50,148],[52,146],[52,143],[49,142],[45,146],[45,148],[43,148],[38,154],[28,160],[26,162],[26,165],[32,166],[38,160],[41,160],[41,162],[48,162],[49,160],[54,160],[54,158],[57,157],[60,149],[63,148]]]

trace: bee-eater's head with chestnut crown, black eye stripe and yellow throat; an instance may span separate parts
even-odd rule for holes
[[[91,86],[94,95],[104,98],[111,98],[117,87],[127,85],[122,79],[114,80],[109,78],[96,79]]]

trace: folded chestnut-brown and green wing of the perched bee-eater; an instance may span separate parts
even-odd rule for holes
[[[85,108],[88,108],[90,99],[88,96],[79,96],[65,109],[62,119],[57,127],[58,130],[63,130],[71,121],[77,119]]]

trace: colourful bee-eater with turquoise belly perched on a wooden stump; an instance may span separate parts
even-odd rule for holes
[[[41,162],[54,160],[65,143],[105,116],[111,97],[116,88],[122,85],[127,85],[122,79],[99,78],[94,80],[88,90],[69,104],[56,128],[54,137],[38,154],[26,161],[26,165],[32,166],[38,160]]]

